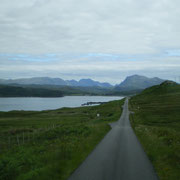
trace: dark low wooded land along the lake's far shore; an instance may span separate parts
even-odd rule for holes
[[[61,85],[0,85],[0,97],[61,97],[70,95],[115,95],[112,88]]]

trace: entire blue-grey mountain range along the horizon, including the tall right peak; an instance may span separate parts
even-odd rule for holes
[[[163,79],[148,78],[140,75],[128,76],[123,82],[112,86],[111,84],[92,79],[63,80],[61,78],[34,77],[23,79],[0,79],[1,85],[18,86],[24,88],[41,88],[61,91],[64,95],[92,94],[92,95],[129,95],[136,94],[142,90],[161,84]],[[70,89],[69,89],[70,88]]]

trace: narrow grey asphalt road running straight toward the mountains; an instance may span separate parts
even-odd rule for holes
[[[135,136],[130,122],[128,99],[121,118],[74,171],[69,180],[156,180],[156,173]]]

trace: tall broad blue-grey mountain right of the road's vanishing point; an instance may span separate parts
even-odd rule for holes
[[[165,80],[158,77],[148,78],[140,75],[128,76],[123,82],[115,86],[116,91],[143,90],[148,87],[159,85]]]

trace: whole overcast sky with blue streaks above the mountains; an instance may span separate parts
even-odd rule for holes
[[[180,81],[179,0],[0,0],[0,78]]]

